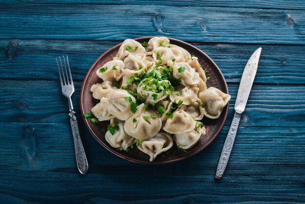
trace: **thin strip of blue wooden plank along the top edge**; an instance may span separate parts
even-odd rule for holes
[[[167,6],[200,6],[200,7],[235,7],[235,8],[272,8],[272,9],[305,9],[302,0],[0,0],[0,3],[69,3],[69,4],[141,4]]]

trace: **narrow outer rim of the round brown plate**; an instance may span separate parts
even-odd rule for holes
[[[150,40],[151,38],[153,37],[156,37],[156,36],[147,36],[147,37],[140,37],[140,38],[135,38],[133,39],[134,41],[139,41],[139,40]],[[173,38],[168,38],[170,41],[178,41],[182,44],[187,44],[188,46],[191,46],[193,49],[196,49],[198,52],[202,53],[208,60],[210,60],[210,62],[213,64],[213,66],[216,67],[217,69],[217,72],[219,74],[219,76],[222,78],[222,81],[224,82],[224,85],[225,85],[225,91],[227,94],[229,94],[229,89],[228,89],[228,84],[225,80],[225,77],[224,75],[222,74],[220,68],[217,66],[217,64],[210,58],[210,56],[208,56],[205,52],[203,52],[202,50],[200,50],[199,48],[195,47],[194,45],[188,43],[188,42],[185,42],[185,41],[180,41],[178,39],[173,39]],[[89,132],[91,133],[91,135],[95,138],[95,140],[100,143],[104,148],[106,148],[108,151],[112,152],[114,155],[122,158],[122,159],[125,159],[125,160],[128,160],[130,162],[133,162],[133,163],[142,163],[142,164],[152,164],[152,165],[159,165],[159,164],[168,164],[168,163],[175,163],[175,162],[178,162],[178,161],[182,161],[182,160],[185,160],[187,158],[190,158],[198,153],[200,153],[201,151],[203,151],[205,148],[207,148],[207,146],[210,145],[210,143],[212,143],[219,135],[219,133],[221,132],[221,130],[223,129],[224,125],[225,125],[225,122],[227,120],[227,116],[228,116],[228,112],[229,112],[229,102],[228,104],[225,106],[225,108],[222,110],[224,112],[224,120],[222,121],[222,123],[220,124],[220,127],[219,129],[217,130],[217,132],[213,135],[213,137],[210,139],[210,141],[208,143],[206,143],[205,145],[203,145],[201,147],[201,149],[199,149],[199,151],[194,151],[194,152],[191,152],[190,154],[188,154],[187,156],[185,157],[179,157],[179,158],[176,158],[176,159],[173,159],[173,160],[168,160],[168,161],[161,161],[161,162],[150,162],[150,161],[143,161],[143,160],[138,160],[138,159],[135,159],[133,157],[130,157],[130,156],[126,156],[126,155],[122,155],[120,152],[117,152],[115,151],[114,149],[112,149],[110,146],[108,146],[107,144],[105,144],[102,140],[99,139],[99,137],[95,134],[95,132],[93,131],[93,129],[91,128],[90,124],[89,124],[89,120],[86,120],[86,118],[84,117],[84,103],[82,102],[83,101],[83,95],[84,95],[84,88],[85,88],[85,84],[86,82],[88,81],[89,79],[89,75],[90,73],[92,72],[92,70],[94,69],[95,65],[100,61],[100,59],[102,59],[104,56],[106,56],[109,52],[111,52],[112,50],[114,50],[115,48],[119,47],[122,45],[123,42],[117,44],[117,45],[114,45],[113,47],[111,47],[110,49],[108,49],[106,52],[104,52],[101,56],[99,56],[95,62],[91,65],[91,67],[89,68],[89,70],[87,71],[87,74],[82,82],[82,85],[81,85],[81,89],[80,89],[80,96],[79,96],[79,106],[80,106],[80,113],[81,113],[81,117],[84,121],[84,123],[86,124],[86,127],[88,128]]]

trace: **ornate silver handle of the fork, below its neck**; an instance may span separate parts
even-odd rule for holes
[[[75,112],[71,111],[69,113],[69,116],[70,116],[71,128],[73,133],[73,139],[74,139],[77,168],[81,174],[86,174],[88,171],[88,162],[83,144],[81,143],[81,139],[79,136],[79,130],[78,130],[78,124],[76,121]]]

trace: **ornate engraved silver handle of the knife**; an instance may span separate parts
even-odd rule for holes
[[[240,117],[242,114],[240,113],[236,113],[234,114],[234,118],[232,120],[227,138],[226,138],[226,142],[222,148],[222,152],[219,158],[219,162],[218,162],[218,166],[217,166],[217,171],[216,171],[216,175],[215,177],[217,179],[221,179],[221,177],[223,176],[225,169],[227,167],[227,164],[229,162],[229,157],[233,148],[233,144],[235,141],[235,136],[237,133],[237,129],[238,129],[238,125],[239,125],[239,121],[240,121]]]

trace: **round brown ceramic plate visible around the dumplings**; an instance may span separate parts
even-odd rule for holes
[[[134,40],[142,43],[144,41],[149,41],[151,38],[152,37],[144,37],[137,38]],[[208,87],[213,86],[220,89],[224,93],[228,93],[228,86],[224,76],[222,75],[220,69],[215,64],[215,62],[212,61],[207,54],[184,41],[179,41],[176,39],[170,39],[170,41],[172,44],[183,47],[184,49],[189,51],[191,55],[195,55],[196,57],[198,57],[198,61],[202,65],[202,68],[207,71],[207,77],[210,77],[210,81],[207,81]],[[115,57],[121,44],[122,43],[115,45],[114,47],[109,49],[107,52],[101,55],[90,67],[80,91],[80,110],[82,116],[85,112],[90,112],[91,108],[96,104],[96,100],[92,97],[92,93],[90,91],[90,88],[93,84],[102,82],[102,80],[98,78],[95,74],[96,70],[99,69],[106,62],[111,61]],[[101,127],[105,127],[107,129],[107,125],[109,124],[108,121],[100,122],[99,124],[94,125],[90,122],[90,119],[85,119],[84,116],[83,120],[91,134],[95,137],[95,139],[115,155],[135,163],[163,164],[173,163],[189,158],[206,148],[211,142],[213,142],[213,140],[215,140],[222,127],[224,126],[228,110],[229,104],[227,104],[227,106],[224,108],[221,116],[218,119],[212,120],[204,118],[202,120],[202,122],[205,124],[207,134],[201,137],[199,142],[195,144],[195,146],[193,146],[191,149],[189,149],[188,152],[182,152],[178,150],[174,143],[169,154],[163,153],[161,155],[158,155],[155,161],[153,162],[149,161],[149,156],[147,154],[141,152],[136,147],[131,149],[129,152],[126,152],[116,150],[116,148],[110,146],[110,144],[107,143],[107,141],[105,140],[105,135],[101,132]]]

